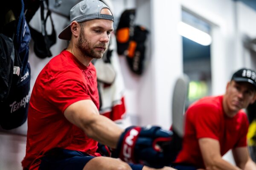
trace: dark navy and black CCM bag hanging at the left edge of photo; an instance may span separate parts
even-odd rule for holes
[[[15,5],[13,5],[15,4]],[[5,67],[2,67],[6,77],[0,77],[0,82],[8,82],[8,88],[0,101],[0,126],[3,129],[14,129],[22,125],[27,118],[29,90],[30,90],[30,65],[29,42],[30,31],[24,16],[23,0],[4,1],[1,6],[1,54],[5,58]],[[10,51],[11,55],[10,55]],[[6,86],[6,87],[7,87]]]

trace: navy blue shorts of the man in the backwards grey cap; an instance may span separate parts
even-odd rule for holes
[[[95,158],[76,150],[54,148],[41,159],[39,170],[82,170],[88,161]],[[142,170],[143,165],[129,164],[133,170]]]

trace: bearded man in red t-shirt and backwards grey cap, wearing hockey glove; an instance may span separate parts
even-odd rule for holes
[[[171,163],[171,131],[156,126],[123,130],[99,115],[91,61],[106,51],[113,20],[99,0],[83,0],[70,10],[70,25],[58,36],[70,43],[47,63],[32,90],[24,170],[147,170],[143,164]],[[98,142],[115,149],[113,156],[123,161],[100,156]]]

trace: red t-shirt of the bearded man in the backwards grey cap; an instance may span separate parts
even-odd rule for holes
[[[60,147],[100,156],[97,142],[64,117],[74,102],[90,99],[99,109],[96,69],[84,66],[69,51],[52,58],[38,75],[32,90],[24,168],[37,169],[48,150]]]

